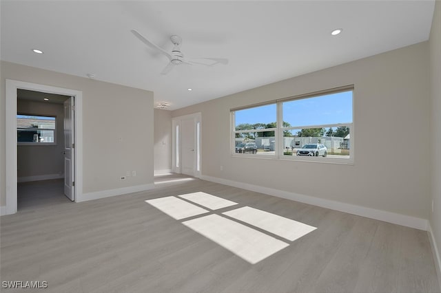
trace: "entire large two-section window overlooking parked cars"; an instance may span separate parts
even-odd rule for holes
[[[344,87],[232,110],[233,153],[351,162],[352,101],[353,87]]]

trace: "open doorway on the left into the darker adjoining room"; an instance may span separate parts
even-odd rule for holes
[[[71,96],[17,89],[18,208],[35,202],[34,194],[37,198],[45,198],[45,193],[52,193],[52,197],[63,196],[63,192],[57,193],[58,188],[54,188],[57,183],[61,184],[61,190],[64,189],[64,195],[74,201],[73,105],[74,97]],[[41,188],[44,184],[31,183],[42,180],[53,180],[50,188],[43,188],[45,193]]]

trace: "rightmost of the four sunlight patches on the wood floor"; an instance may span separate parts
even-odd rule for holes
[[[316,230],[316,227],[300,223],[300,221],[280,217],[279,215],[274,215],[256,208],[250,208],[249,206],[229,210],[223,213],[223,215],[238,219],[239,221],[256,226],[290,241],[294,241]]]

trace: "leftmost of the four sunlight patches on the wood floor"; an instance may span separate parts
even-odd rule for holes
[[[194,217],[196,215],[208,213],[208,210],[190,204],[189,202],[185,202],[174,196],[149,199],[145,202],[158,208],[158,210],[163,211],[174,219],[185,219],[187,217]]]

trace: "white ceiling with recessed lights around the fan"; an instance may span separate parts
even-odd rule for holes
[[[1,60],[154,91],[178,109],[427,41],[434,1],[1,1]],[[343,28],[331,36],[331,30]],[[214,67],[186,57],[228,58]],[[43,50],[35,54],[32,48]],[[191,87],[193,91],[187,91]]]

